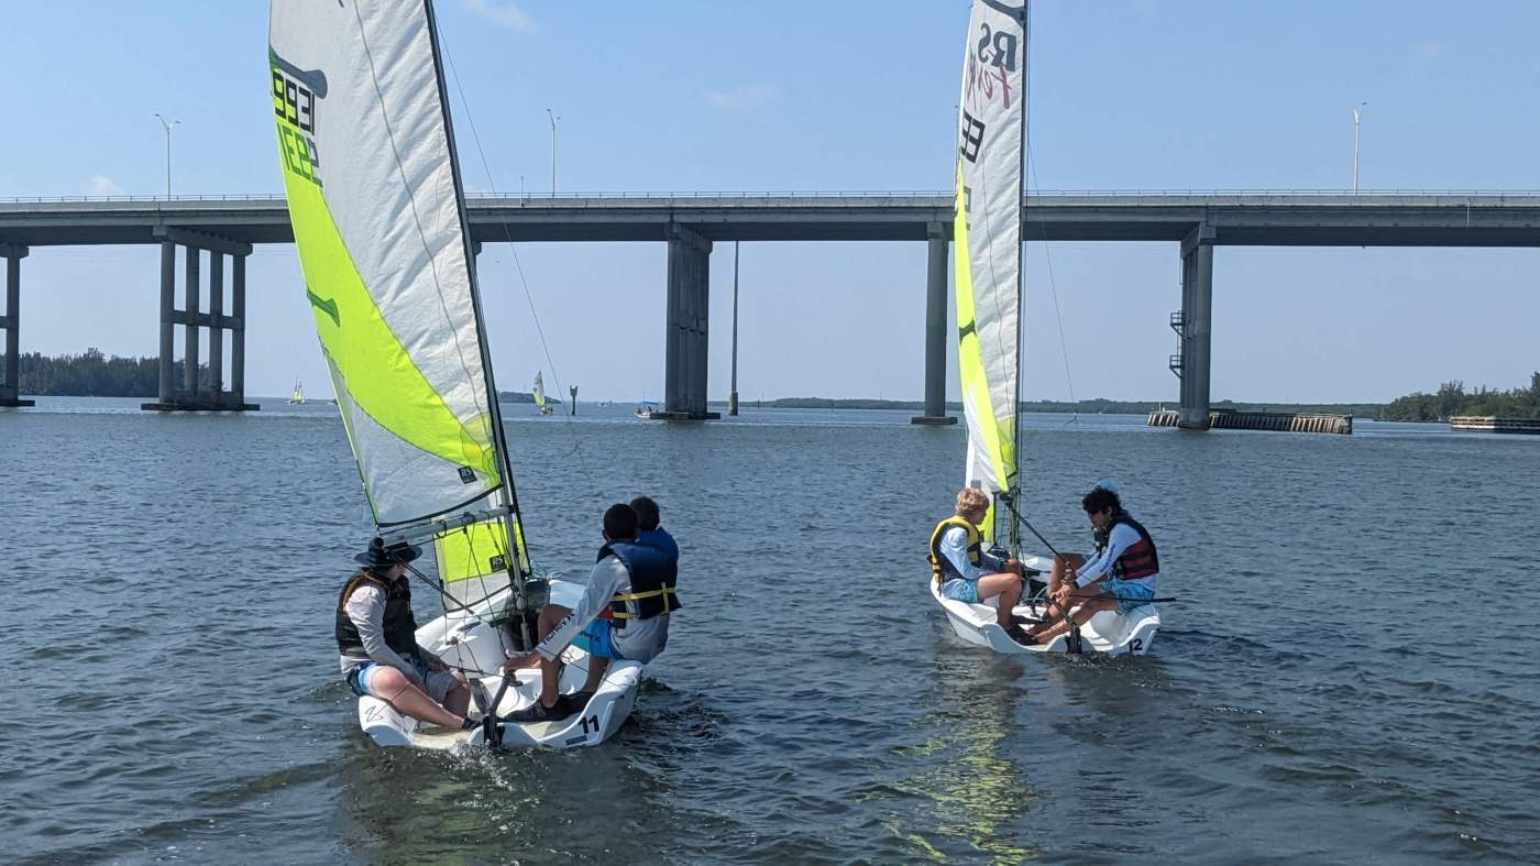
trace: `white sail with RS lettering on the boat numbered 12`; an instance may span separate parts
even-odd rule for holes
[[[962,60],[953,220],[967,482],[1006,496],[1016,493],[1021,402],[1026,37],[1024,2],[973,2]],[[984,530],[992,533],[992,519]]]

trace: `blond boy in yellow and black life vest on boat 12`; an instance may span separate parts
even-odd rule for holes
[[[1027,633],[1010,613],[1021,601],[1021,562],[984,552],[978,525],[989,516],[989,493],[976,487],[958,492],[956,515],[936,524],[930,533],[930,578],[941,582],[941,595],[969,604],[999,596],[996,621],[1015,641]]]

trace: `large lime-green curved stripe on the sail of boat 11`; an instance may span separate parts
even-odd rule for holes
[[[297,128],[282,119],[277,125],[279,148],[283,149],[285,136],[294,136]],[[488,485],[497,485],[500,475],[488,415],[465,421],[454,416],[365,288],[320,186],[294,168],[303,166],[302,162],[286,157],[280,162],[316,333],[353,402],[411,445],[470,467],[487,478]]]

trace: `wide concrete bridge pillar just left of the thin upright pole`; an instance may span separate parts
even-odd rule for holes
[[[721,418],[705,410],[707,324],[711,297],[711,242],[668,223],[668,316],[664,341],[664,408],[661,421]]]

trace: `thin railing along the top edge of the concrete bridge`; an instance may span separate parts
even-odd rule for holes
[[[474,200],[573,200],[573,199],[935,199],[950,197],[952,190],[675,190],[675,191],[593,191],[593,193],[467,193]],[[1523,199],[1540,197],[1540,190],[1266,190],[1238,186],[1230,190],[1029,190],[1027,197],[1429,197],[1468,196]],[[71,202],[280,202],[282,193],[197,193],[177,196],[0,196],[5,203],[71,203]]]

